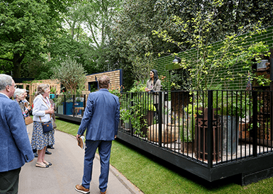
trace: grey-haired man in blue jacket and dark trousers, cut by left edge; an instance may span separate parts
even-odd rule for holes
[[[0,193],[18,193],[21,167],[34,158],[22,110],[10,99],[15,89],[11,76],[0,74]]]

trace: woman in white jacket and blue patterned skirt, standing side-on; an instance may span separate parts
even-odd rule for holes
[[[50,93],[50,86],[48,84],[40,84],[37,89],[37,96],[33,101],[33,134],[31,138],[32,149],[37,149],[38,159],[35,164],[36,167],[48,168],[52,164],[45,161],[45,149],[48,144],[54,144],[52,138],[52,131],[43,133],[42,122],[52,120],[51,115],[54,109],[51,108],[48,94]]]

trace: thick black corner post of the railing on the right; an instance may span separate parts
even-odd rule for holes
[[[213,91],[208,91],[208,169],[213,166]]]

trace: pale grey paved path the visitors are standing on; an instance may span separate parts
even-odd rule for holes
[[[32,134],[32,125],[28,126]],[[52,166],[48,169],[35,167],[35,158],[22,167],[19,177],[19,194],[70,194],[76,184],[81,183],[84,170],[84,150],[77,146],[76,137],[55,130],[55,149],[48,149],[51,155],[45,155],[45,160]],[[96,154],[93,166],[93,176],[90,183],[90,193],[99,192],[99,155]],[[133,183],[130,183],[113,166],[110,166],[107,194],[142,193]]]

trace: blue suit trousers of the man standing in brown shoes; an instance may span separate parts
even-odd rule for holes
[[[99,148],[99,156],[101,162],[101,175],[99,176],[99,189],[101,192],[106,191],[109,175],[110,155],[112,141],[92,141],[86,140],[86,148],[84,154],[84,176],[82,177],[82,186],[90,187],[92,179],[93,160],[96,149]]]

